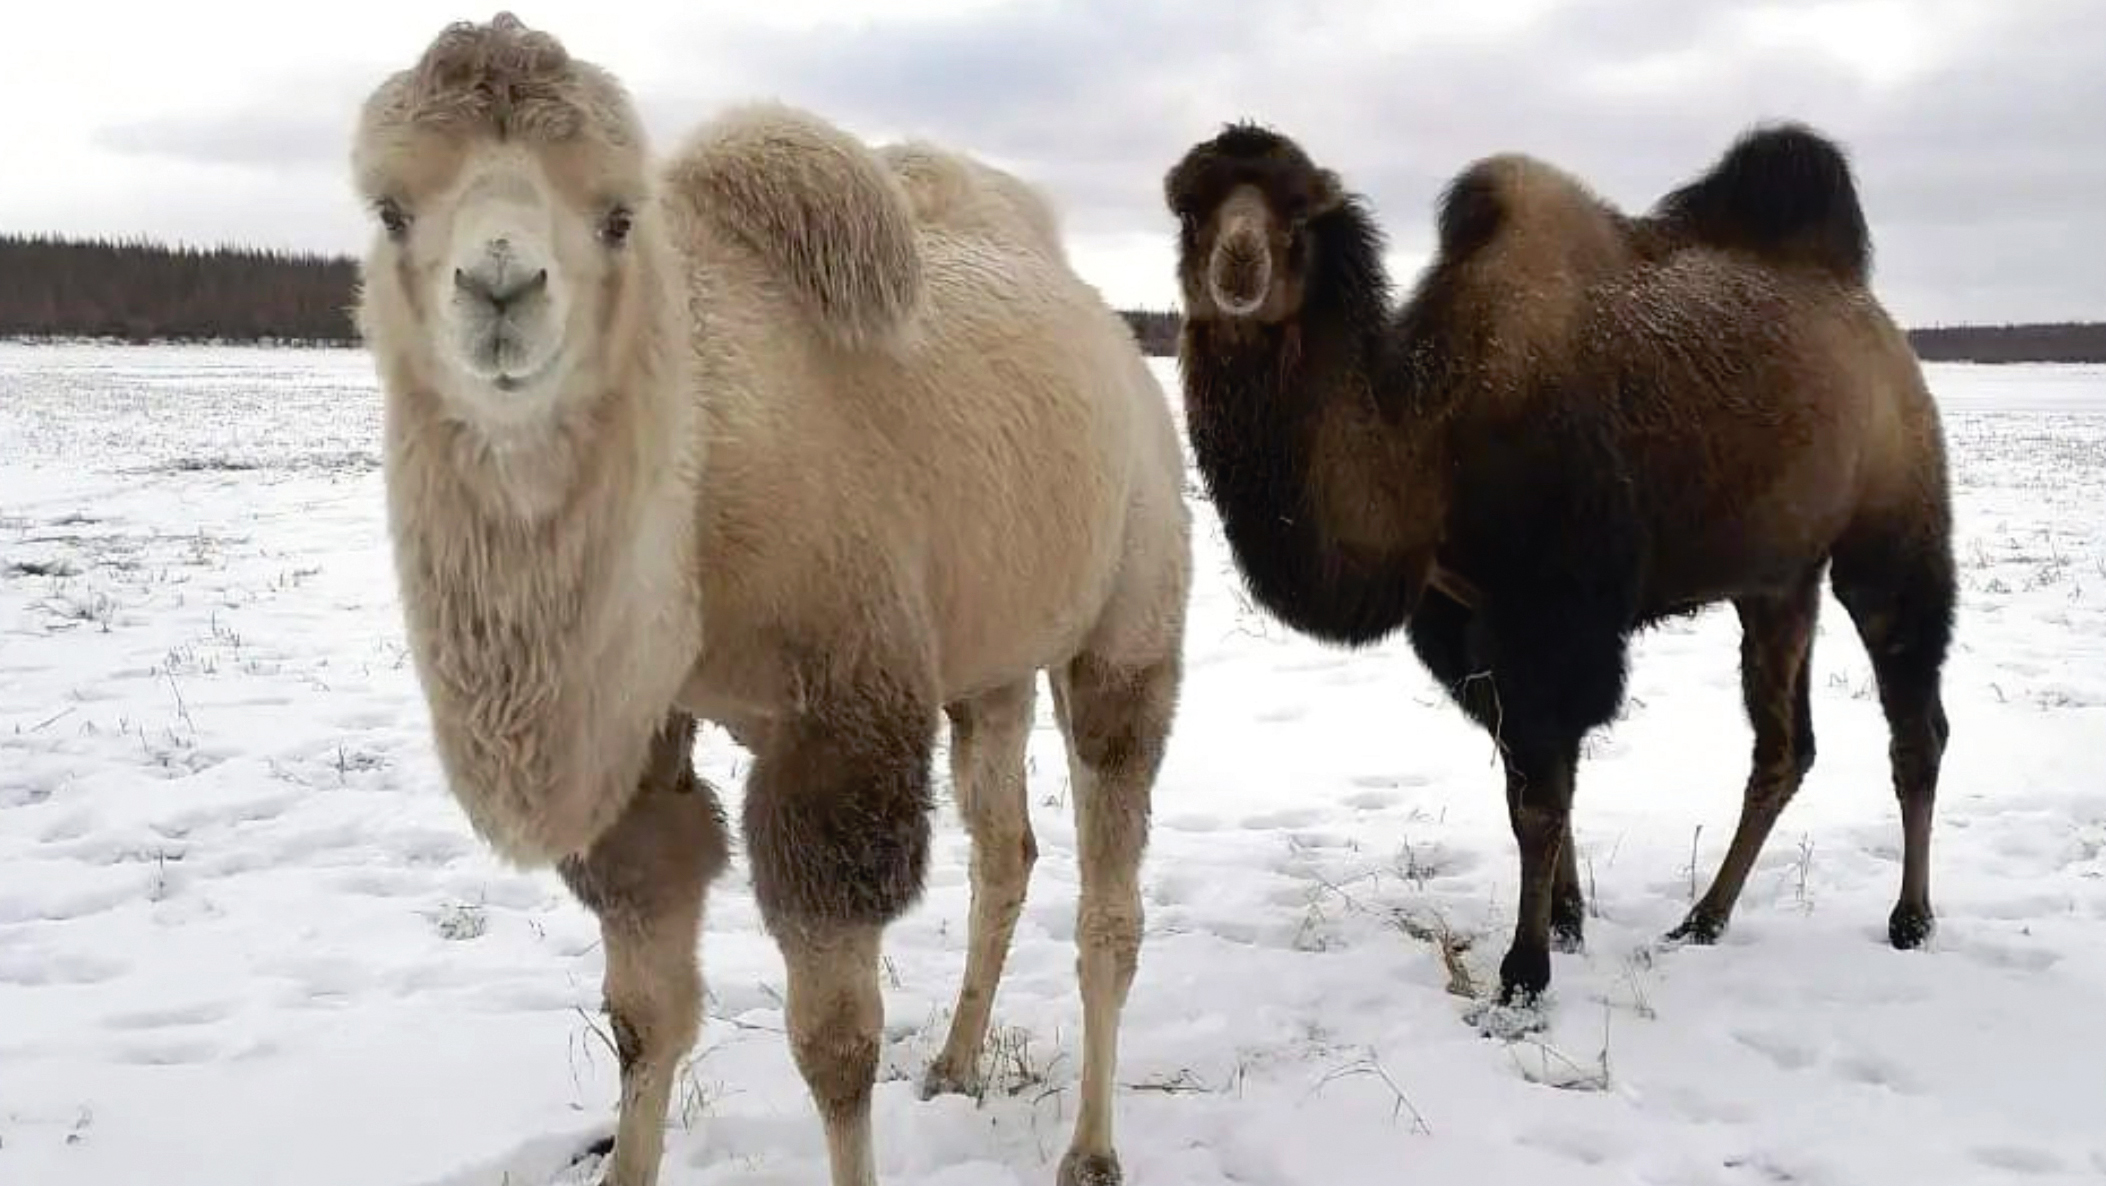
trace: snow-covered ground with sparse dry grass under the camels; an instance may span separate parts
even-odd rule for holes
[[[1462,1020],[1428,942],[1495,982],[1514,849],[1489,742],[1400,640],[1329,651],[1251,613],[1198,506],[1120,1066],[1129,1180],[2106,1175],[2106,369],[1933,383],[1965,590],[1931,948],[1883,942],[1885,727],[1828,602],[1820,765],[1727,940],[1649,954],[1746,771],[1737,634],[1712,611],[1641,643],[1630,714],[1582,769],[1598,916],[1556,961],[1550,1028],[1512,1043]],[[438,784],[377,423],[356,352],[0,348],[0,1182],[518,1186],[607,1129],[592,916],[499,868]],[[984,1102],[914,1091],[965,958],[948,800],[927,902],[889,933],[889,1186],[1053,1180],[1078,1036],[1059,752],[1047,720]],[[735,813],[741,754],[708,733],[701,760]],[[668,1184],[821,1180],[743,862],[703,969]]]

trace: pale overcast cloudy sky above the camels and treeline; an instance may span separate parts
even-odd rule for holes
[[[354,253],[362,95],[449,15],[400,0],[11,4],[0,230]],[[1438,8],[1438,11],[1436,11]],[[1051,190],[1082,272],[1173,308],[1165,169],[1224,120],[1299,139],[1424,261],[1432,200],[1523,150],[1643,206],[1750,120],[1845,139],[1908,324],[2106,318],[2098,0],[524,0],[615,70],[659,143],[779,97]],[[863,15],[882,11],[882,15]]]

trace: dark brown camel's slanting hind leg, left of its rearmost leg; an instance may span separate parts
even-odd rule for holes
[[[1769,830],[1813,769],[1811,653],[1820,605],[1820,571],[1788,594],[1733,602],[1742,630],[1740,691],[1754,727],[1754,756],[1733,843],[1710,889],[1668,933],[1670,942],[1712,944],[1725,933]]]

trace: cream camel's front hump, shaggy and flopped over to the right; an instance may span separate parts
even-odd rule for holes
[[[885,345],[922,303],[906,190],[819,116],[781,103],[731,107],[668,164],[665,200],[754,251],[838,345]]]

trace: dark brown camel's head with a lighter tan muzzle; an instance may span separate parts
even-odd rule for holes
[[[1257,124],[1228,124],[1163,179],[1194,320],[1283,322],[1308,293],[1310,221],[1346,204],[1337,175]]]

